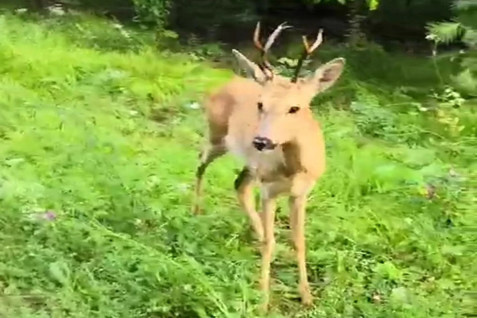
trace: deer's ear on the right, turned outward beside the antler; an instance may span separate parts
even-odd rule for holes
[[[311,76],[304,79],[306,85],[311,85],[311,89],[318,94],[333,86],[343,73],[346,60],[337,58],[321,65]]]

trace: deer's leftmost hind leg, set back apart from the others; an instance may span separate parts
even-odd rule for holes
[[[211,164],[215,159],[222,157],[227,153],[227,148],[223,142],[210,143],[200,153],[200,164],[196,171],[195,181],[195,200],[192,206],[192,212],[194,214],[200,213],[199,201],[202,195],[202,179],[207,169],[207,166]]]

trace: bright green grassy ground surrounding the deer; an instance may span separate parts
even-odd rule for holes
[[[205,214],[189,213],[205,122],[188,105],[231,72],[128,51],[107,22],[72,19],[0,17],[0,317],[255,317],[259,253],[235,159],[210,167]],[[417,110],[426,101],[354,73],[319,99],[328,167],[306,227],[315,307],[299,304],[281,202],[270,317],[469,316],[472,104],[443,108],[466,126],[456,135]]]

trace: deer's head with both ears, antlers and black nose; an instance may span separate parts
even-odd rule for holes
[[[261,93],[255,103],[257,108],[258,125],[253,146],[258,151],[273,150],[277,145],[293,142],[307,130],[312,112],[310,102],[315,95],[331,87],[340,77],[344,58],[337,58],[318,67],[311,75],[299,77],[300,69],[305,59],[315,51],[322,42],[322,30],[317,39],[309,45],[303,36],[304,51],[298,60],[295,74],[287,78],[275,74],[267,60],[267,53],[273,42],[284,29],[290,28],[286,22],[280,24],[268,37],[265,45],[259,40],[260,22],[257,23],[253,35],[255,47],[260,52],[260,61],[255,64],[239,51],[232,50],[241,69],[246,71],[261,86]]]

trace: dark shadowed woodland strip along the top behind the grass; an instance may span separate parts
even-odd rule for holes
[[[425,25],[452,18],[449,0],[26,0],[41,10],[53,2],[140,20],[210,40],[238,34],[258,19],[292,22],[304,29],[324,27],[335,37],[362,32],[396,40],[424,37]],[[377,3],[374,10],[371,2]],[[222,34],[222,33],[226,34]]]

